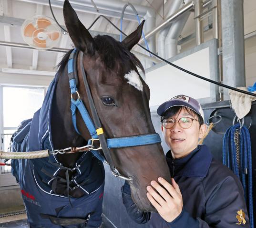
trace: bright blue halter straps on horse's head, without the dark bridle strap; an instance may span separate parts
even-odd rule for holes
[[[88,141],[88,145],[92,145],[94,140],[99,139],[99,134],[103,133],[102,128],[95,129],[94,123],[92,122],[92,119],[84,106],[82,100],[80,99],[78,90],[77,90],[77,69],[76,69],[76,57],[78,55],[79,51],[77,49],[74,49],[72,53],[70,54],[69,61],[68,61],[68,76],[69,76],[69,84],[71,89],[71,112],[72,112],[72,122],[74,125],[74,128],[77,133],[80,134],[77,128],[76,124],[76,109],[80,111],[80,114],[82,115],[82,119],[90,132],[92,139]],[[78,95],[78,99],[74,100],[72,98],[73,94]],[[161,143],[161,138],[158,133],[153,134],[144,134],[144,135],[138,135],[138,136],[129,136],[129,137],[121,137],[121,138],[113,138],[113,139],[107,139],[107,147],[109,149],[111,148],[122,148],[122,147],[130,147],[130,146],[141,146],[141,145],[149,145],[154,143]],[[92,153],[101,161],[106,161],[106,159],[98,152],[98,151],[92,151]]]

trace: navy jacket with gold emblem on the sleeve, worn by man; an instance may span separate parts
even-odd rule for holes
[[[181,159],[166,154],[171,176],[183,197],[183,210],[174,221],[166,222],[158,213],[143,212],[131,198],[130,186],[122,187],[123,204],[138,224],[147,223],[149,228],[249,228],[249,218],[243,187],[236,175],[221,162],[212,158],[206,145],[199,145]],[[245,214],[246,223],[239,212]]]

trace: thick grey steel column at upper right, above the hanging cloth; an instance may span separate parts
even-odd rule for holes
[[[223,82],[245,86],[245,39],[243,0],[221,0]],[[224,100],[228,100],[224,88]]]

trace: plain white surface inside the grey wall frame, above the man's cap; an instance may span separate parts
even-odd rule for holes
[[[173,62],[200,76],[210,78],[209,47]],[[175,95],[184,94],[196,99],[210,97],[210,83],[195,78],[173,66],[164,65],[146,73],[150,87],[149,105],[160,105]]]

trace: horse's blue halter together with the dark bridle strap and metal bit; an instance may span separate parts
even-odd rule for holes
[[[80,67],[82,70],[83,82],[86,89],[88,101],[90,104],[90,109],[92,112],[93,122],[86,107],[84,106],[82,100],[80,99],[80,96],[76,87],[78,83],[78,76],[77,76],[77,69],[76,69],[76,61],[77,61],[78,54],[79,54],[79,51],[75,48],[70,54],[69,61],[68,61],[68,76],[69,76],[69,84],[71,89],[71,111],[72,111],[72,122],[73,122],[74,128],[76,132],[80,134],[76,125],[76,109],[78,109],[80,111],[80,114],[82,115],[82,119],[89,133],[92,136],[92,139],[88,141],[88,145],[93,145],[93,142],[95,140],[99,140],[101,143],[101,146],[99,148],[94,150],[92,149],[92,153],[99,160],[107,163],[110,166],[111,172],[115,177],[119,177],[124,180],[131,180],[130,178],[122,176],[119,173],[119,171],[114,167],[113,160],[110,155],[110,149],[161,143],[161,138],[158,133],[153,133],[153,134],[143,134],[143,135],[135,135],[135,136],[129,136],[129,137],[113,138],[113,139],[107,139],[107,140],[105,139],[102,125],[92,99],[92,94],[87,81],[86,73],[84,71],[84,67],[82,63],[82,59],[83,59],[82,52],[80,52]],[[74,100],[72,97],[72,95],[75,93],[78,95],[77,100]],[[105,158],[98,152],[100,149],[102,149]]]

